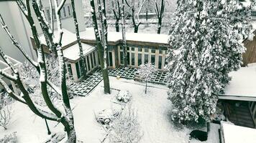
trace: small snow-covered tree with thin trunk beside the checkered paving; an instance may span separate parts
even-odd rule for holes
[[[157,68],[154,64],[142,64],[140,65],[140,69],[138,69],[137,73],[139,74],[140,79],[146,83],[145,94],[147,94],[147,82],[150,81],[152,75],[157,71]]]

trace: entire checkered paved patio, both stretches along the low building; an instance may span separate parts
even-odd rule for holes
[[[137,79],[137,69],[133,67],[124,68],[124,66],[119,66],[116,69],[109,69],[109,76],[116,77],[120,76],[125,79]],[[166,72],[157,71],[150,79],[150,83],[154,84],[166,84],[165,80]],[[81,82],[76,82],[71,84],[70,92],[75,95],[85,97],[89,94],[94,87],[96,87],[102,80],[101,71],[98,69],[93,71],[92,74],[89,74],[88,77]]]

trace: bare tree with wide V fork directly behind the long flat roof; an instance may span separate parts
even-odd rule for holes
[[[139,26],[140,26],[140,24],[142,24],[142,22],[140,21],[140,12],[142,11],[142,7],[145,5],[146,1],[147,0],[140,0],[140,3],[138,3],[138,5],[140,4],[140,6],[139,6],[139,9],[136,14],[137,15],[137,21],[136,21],[135,20],[135,1],[134,0],[130,0],[130,1],[125,0],[125,3],[129,7],[130,14],[132,16],[132,25],[134,26],[134,33],[138,33]]]

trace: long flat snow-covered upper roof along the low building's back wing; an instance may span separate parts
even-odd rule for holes
[[[86,29],[81,32],[81,39],[95,40],[94,30],[92,28]],[[141,41],[156,44],[168,44],[167,34],[142,34],[142,33],[126,33],[127,42],[129,41]],[[108,32],[108,41],[110,42],[122,42],[122,32]]]

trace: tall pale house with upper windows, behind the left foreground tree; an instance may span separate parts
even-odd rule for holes
[[[59,0],[60,1],[60,0]],[[71,9],[70,0],[65,2],[65,6],[61,10],[61,20],[63,22],[63,28],[68,29],[68,31],[75,32],[75,24],[73,22],[73,11]],[[31,2],[30,2],[31,4]],[[42,0],[42,5],[45,9],[45,16],[48,22],[50,22],[50,3],[48,0]],[[86,26],[84,25],[83,18],[83,4],[82,0],[75,1],[76,6],[76,16],[78,19],[79,30],[85,31]],[[30,6],[32,9],[32,6]],[[22,11],[19,10],[19,6],[17,6],[16,1],[14,0],[0,0],[0,14],[3,16],[3,19],[6,25],[9,27],[9,30],[14,35],[15,39],[19,41],[19,44],[22,45],[24,51],[27,51],[27,54],[31,56],[33,59],[37,59],[35,50],[33,49],[33,45],[30,37],[32,36],[32,32],[30,30],[27,19],[23,16]],[[32,9],[32,16],[36,19],[35,13]],[[40,25],[37,20],[35,20],[35,25],[38,29],[38,34],[42,34],[40,30]],[[54,29],[57,29],[56,19],[54,18]],[[18,61],[24,62],[25,58],[22,54],[19,53],[17,48],[12,44],[12,41],[6,35],[4,29],[0,29],[0,47],[3,49],[4,53],[15,57]]]

